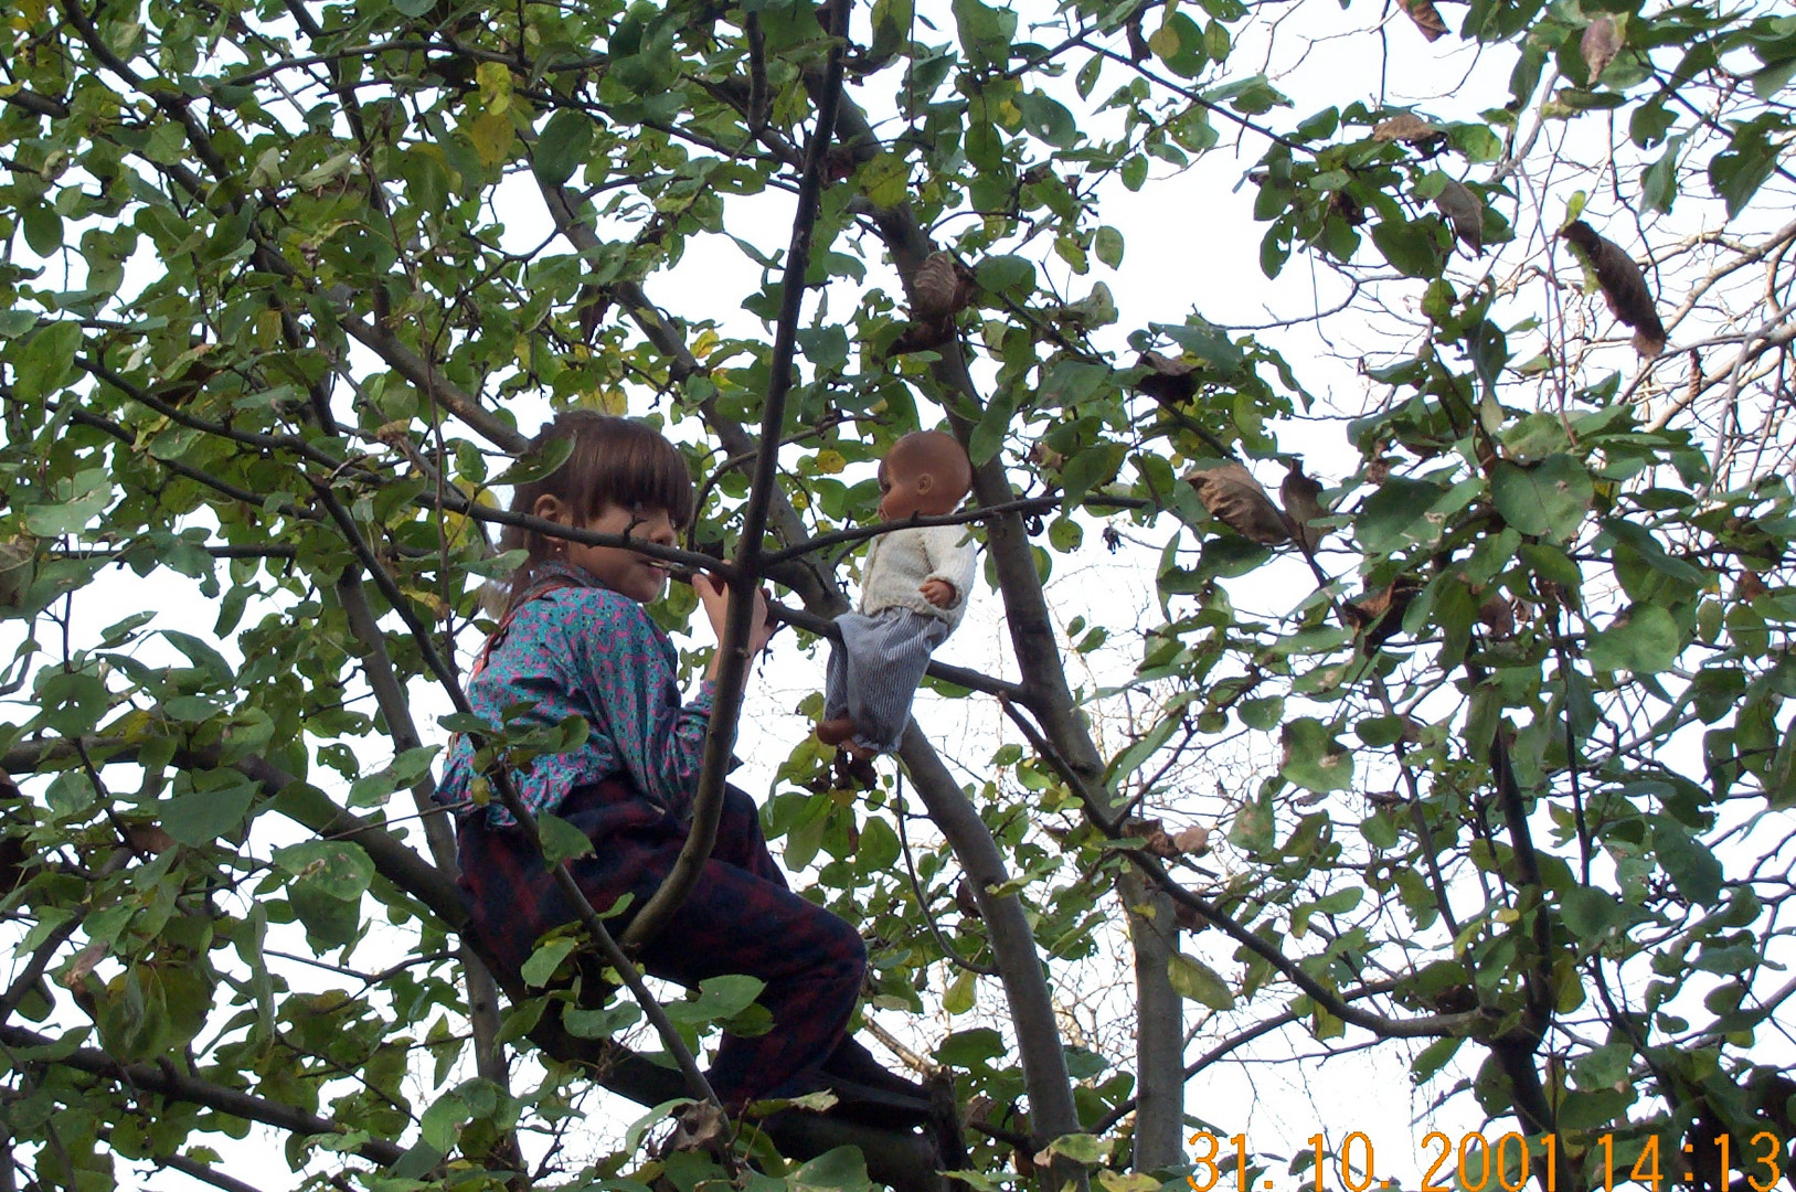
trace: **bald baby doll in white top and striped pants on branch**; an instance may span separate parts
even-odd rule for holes
[[[952,434],[905,434],[880,461],[880,519],[952,513],[973,465]],[[855,758],[893,752],[911,720],[911,697],[929,655],[961,623],[973,582],[966,526],[909,526],[867,546],[860,610],[835,619],[817,740]]]

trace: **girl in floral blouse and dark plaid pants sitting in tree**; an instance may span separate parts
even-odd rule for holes
[[[532,451],[555,440],[569,440],[573,454],[551,476],[519,485],[514,512],[674,544],[691,519],[693,494],[686,461],[668,440],[645,424],[591,411],[559,415]],[[621,932],[686,840],[717,661],[699,697],[682,704],[674,643],[643,610],[661,596],[666,564],[629,548],[517,528],[506,528],[501,548],[528,555],[467,695],[489,723],[524,707],[523,723],[555,725],[578,714],[591,725],[577,750],[539,756],[528,770],[514,772],[514,781],[533,813],[553,813],[593,840],[593,855],[569,869],[594,910],[603,914],[623,894],[634,896],[612,925]],[[724,585],[700,574],[693,587],[722,637]],[[760,628],[751,653],[769,634],[765,600],[758,594],[756,601]],[[512,817],[496,801],[472,806],[474,777],[472,745],[458,738],[438,797],[460,811],[469,930],[515,975],[535,941],[571,923],[575,910]],[[873,1074],[896,1079],[846,1038],[866,971],[860,935],[787,889],[754,802],[740,790],[726,795],[717,847],[699,885],[638,959],[650,975],[688,987],[722,973],[767,982],[760,1002],[772,1029],[753,1039],[726,1034],[709,1072],[731,1109],[819,1088],[823,1068],[862,1081]]]

